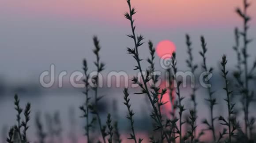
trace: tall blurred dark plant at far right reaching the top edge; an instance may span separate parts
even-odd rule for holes
[[[250,80],[253,79],[254,75],[253,72],[256,68],[256,64],[252,66],[252,68],[248,68],[248,44],[252,42],[252,39],[248,38],[248,29],[249,25],[248,22],[251,20],[250,16],[248,15],[248,8],[250,7],[250,3],[248,0],[243,0],[243,10],[240,8],[236,9],[237,14],[243,19],[243,28],[241,32],[236,29],[235,30],[235,35],[236,35],[236,46],[234,46],[234,50],[238,51],[238,46],[239,46],[239,34],[243,38],[243,47],[241,49],[241,55],[242,59],[240,57],[240,54],[238,53],[237,59],[238,59],[238,71],[234,73],[235,79],[237,79],[238,87],[240,87],[240,93],[242,95],[241,97],[241,103],[243,106],[243,111],[244,111],[244,119],[245,119],[245,135],[248,137],[249,134],[252,135],[252,125],[254,124],[254,120],[252,119],[250,122],[249,121],[249,106],[253,100],[254,97],[254,92],[249,89],[249,82]],[[244,70],[241,70],[241,64],[244,65]],[[244,73],[244,77],[242,77],[242,72]],[[250,132],[248,134],[248,131]],[[252,136],[250,136],[252,137]]]

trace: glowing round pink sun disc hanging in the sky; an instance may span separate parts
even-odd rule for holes
[[[176,46],[169,40],[163,40],[158,43],[156,53],[160,58],[171,57],[172,53],[176,51]],[[169,56],[170,55],[170,56]]]

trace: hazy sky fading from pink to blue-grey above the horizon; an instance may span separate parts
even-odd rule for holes
[[[154,44],[173,41],[181,69],[185,69],[186,33],[192,36],[198,62],[199,38],[204,35],[213,66],[222,54],[230,55],[235,63],[233,29],[241,27],[242,21],[234,11],[241,4],[242,0],[132,0],[138,11],[138,34]],[[101,39],[107,70],[131,72],[128,67],[134,63],[128,61],[133,59],[125,52],[126,46],[132,46],[125,36],[130,33],[123,16],[127,10],[125,0],[0,0],[0,75],[38,77],[50,64],[56,64],[59,71],[80,70],[84,57],[94,60],[91,37],[95,34]],[[249,13],[253,18],[249,35],[255,38],[256,4],[252,3]],[[253,47],[255,42],[251,53],[256,52]],[[146,45],[141,53],[147,57]],[[19,75],[15,68],[20,69]]]

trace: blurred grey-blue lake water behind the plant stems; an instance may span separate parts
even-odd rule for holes
[[[124,106],[123,102],[123,89],[121,88],[104,88],[99,89],[99,95],[105,95],[102,100],[100,109],[101,109],[101,118],[102,122],[105,124],[106,114],[113,114],[113,103],[116,103],[114,107],[117,111],[117,117],[119,119],[119,126],[123,136],[126,135],[126,131],[129,129],[129,122],[125,118],[127,113],[127,108]],[[136,90],[136,89],[135,89]],[[134,95],[136,91],[131,91],[131,104],[132,109],[135,112],[135,125],[137,127],[136,131],[139,132],[142,136],[144,132],[149,129],[150,125],[149,110],[147,101],[145,100],[144,95]],[[181,94],[186,97],[184,100],[185,107],[188,109],[191,107],[191,102],[189,101],[190,89],[182,89]],[[201,122],[203,118],[209,118],[208,108],[204,102],[204,98],[207,98],[207,94],[204,92],[204,89],[200,89],[197,92],[197,102],[198,102],[198,122]],[[216,92],[215,95],[219,99],[225,98],[225,94],[222,97],[222,92]],[[2,141],[6,139],[7,130],[15,124],[16,111],[14,109],[14,93],[5,93],[0,97],[0,127],[2,128]],[[44,130],[48,132],[45,114],[53,115],[56,111],[60,113],[61,128],[63,130],[62,137],[64,142],[70,142],[70,133],[72,132],[77,138],[78,142],[84,142],[83,137],[83,119],[79,118],[82,115],[82,112],[79,110],[79,106],[84,102],[84,95],[82,90],[77,89],[43,89],[39,93],[21,93],[19,94],[20,104],[24,108],[26,102],[30,102],[31,109],[31,120],[29,122],[30,129],[28,131],[28,136],[30,141],[36,141],[36,128],[35,128],[35,115],[36,113],[41,113],[41,122],[43,123]],[[115,101],[114,101],[115,100]],[[216,107],[215,114],[226,114],[226,104],[222,100],[218,101],[219,106]],[[223,110],[224,109],[224,110]],[[187,110],[188,111],[188,110]],[[202,125],[199,125],[198,128],[203,129]],[[4,142],[4,141],[3,141]]]

